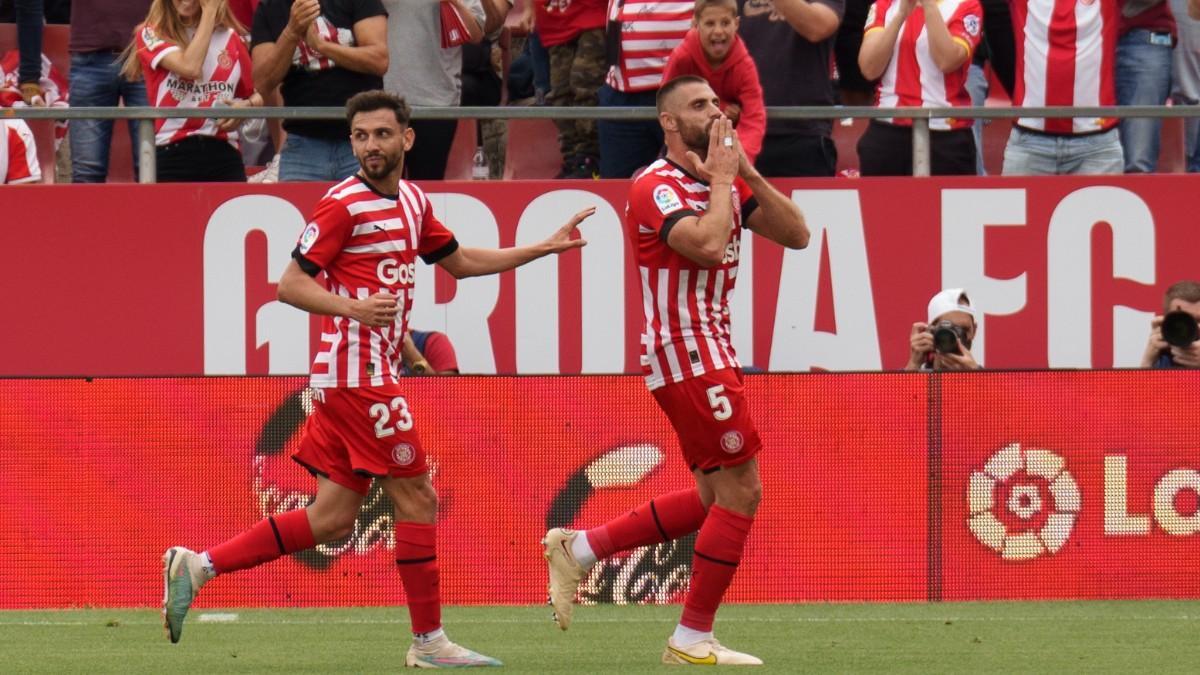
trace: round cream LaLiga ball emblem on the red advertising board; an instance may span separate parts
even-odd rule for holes
[[[1056,554],[1079,516],[1079,485],[1049,450],[1004,447],[971,474],[967,527],[1004,560]]]

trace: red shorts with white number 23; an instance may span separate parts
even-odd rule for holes
[[[366,495],[373,478],[428,471],[400,387],[317,389],[300,449],[292,456],[312,473]]]

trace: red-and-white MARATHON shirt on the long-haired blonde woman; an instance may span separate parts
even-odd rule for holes
[[[240,35],[228,28],[212,31],[199,79],[186,79],[162,65],[172,52],[182,48],[161,37],[152,26],[137,31],[138,58],[145,73],[150,104],[158,108],[212,108],[254,92],[250,49]],[[178,143],[188,136],[211,136],[238,147],[236,131],[221,131],[215,119],[160,119],[155,121],[155,144]]]

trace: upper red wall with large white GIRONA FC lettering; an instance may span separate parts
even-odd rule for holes
[[[900,368],[942,287],[965,287],[990,368],[1136,365],[1165,287],[1195,277],[1189,175],[780,180],[812,229],[784,252],[746,235],[732,306],[743,363],[770,371]],[[640,280],[622,232],[628,181],[430,183],[472,245],[541,239],[582,208],[582,252],[455,282],[416,265],[418,328],[466,372],[636,374]],[[326,186],[106,185],[0,190],[0,375],[299,375],[318,335],[275,281]],[[36,204],[36,208],[30,208]],[[22,286],[24,285],[24,286]],[[61,311],[48,299],[68,299]],[[114,307],[119,306],[120,310]],[[85,339],[49,340],[48,335]]]

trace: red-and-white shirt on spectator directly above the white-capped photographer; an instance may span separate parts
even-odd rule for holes
[[[900,13],[901,2],[896,0],[876,0],[866,14],[866,34],[883,28]],[[876,106],[896,108],[900,106],[919,106],[922,108],[943,108],[971,106],[967,94],[967,71],[971,68],[971,56],[974,55],[983,38],[983,7],[979,0],[942,0],[937,10],[950,31],[950,38],[967,50],[962,66],[943,73],[934,61],[929,49],[929,34],[925,29],[925,11],[920,5],[900,26],[900,35],[892,47],[892,60],[888,61],[883,77],[880,78]],[[883,119],[896,126],[912,126],[908,119]],[[967,129],[968,119],[932,119],[929,127],[935,130]]]

